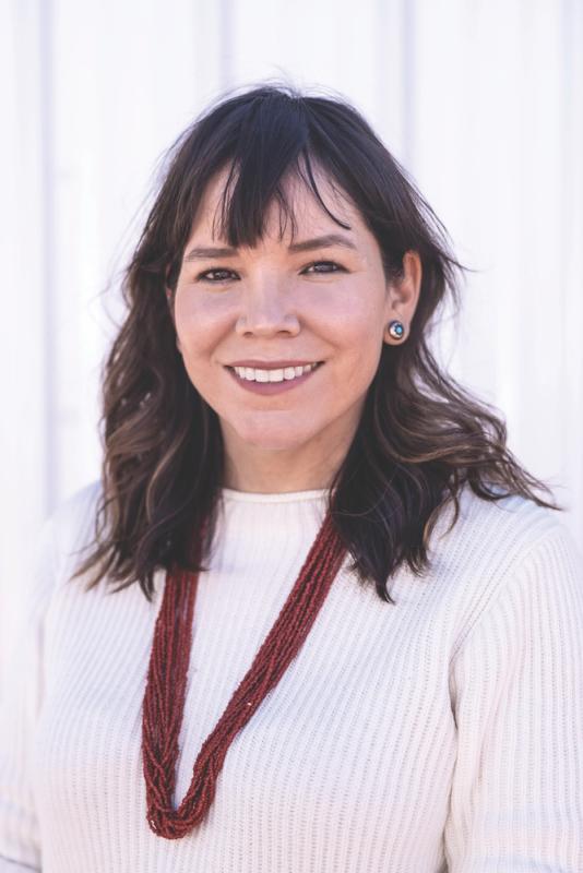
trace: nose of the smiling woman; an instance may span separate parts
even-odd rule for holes
[[[296,335],[300,324],[285,283],[273,275],[246,283],[235,330],[239,336]]]

